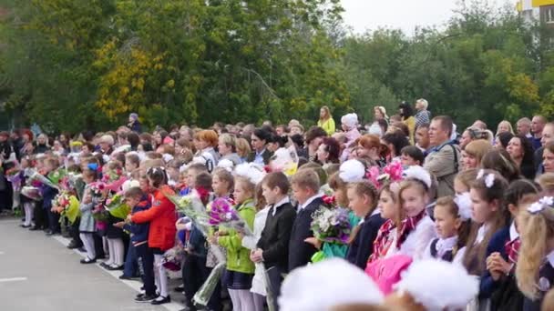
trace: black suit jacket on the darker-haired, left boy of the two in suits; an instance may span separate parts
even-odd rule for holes
[[[286,271],[289,262],[289,241],[291,239],[292,225],[296,218],[296,210],[290,203],[277,206],[275,216],[272,207],[265,221],[262,236],[258,240],[258,248],[263,250],[263,262],[266,268],[279,266]]]

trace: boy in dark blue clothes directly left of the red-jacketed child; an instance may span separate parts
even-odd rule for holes
[[[125,203],[132,206],[131,215],[145,211],[150,208],[151,199],[140,187],[132,187],[125,192]],[[126,224],[119,222],[114,226],[122,227],[131,233],[131,243],[139,258],[139,271],[144,294],[139,294],[135,301],[150,302],[156,298],[156,286],[154,285],[154,254],[149,249],[149,223]]]

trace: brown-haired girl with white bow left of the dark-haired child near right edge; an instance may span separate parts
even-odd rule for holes
[[[488,242],[495,232],[506,226],[508,212],[503,196],[507,188],[506,179],[491,170],[479,170],[477,179],[471,183],[469,196],[474,226],[463,259],[471,275],[481,276],[485,272]]]

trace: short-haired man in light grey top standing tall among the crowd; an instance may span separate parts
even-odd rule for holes
[[[426,156],[424,167],[436,176],[438,197],[454,195],[454,178],[459,168],[460,150],[450,140],[452,129],[452,118],[446,115],[436,116],[429,125],[429,141],[433,148]]]

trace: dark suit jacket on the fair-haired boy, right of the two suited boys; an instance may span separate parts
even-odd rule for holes
[[[289,272],[299,266],[306,266],[311,260],[317,248],[304,242],[307,237],[313,236],[310,228],[312,214],[323,205],[321,197],[316,198],[308,206],[298,211],[294,225],[292,226],[291,241],[289,243]]]

